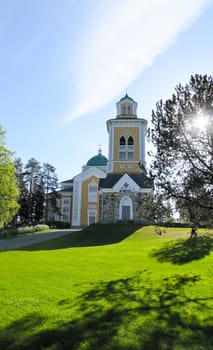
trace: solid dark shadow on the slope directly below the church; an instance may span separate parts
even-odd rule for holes
[[[55,250],[71,247],[90,247],[118,243],[136,230],[141,225],[115,224],[115,225],[91,225],[82,231],[72,232],[66,236],[55,238],[46,242],[32,244],[21,250]],[[20,248],[18,248],[20,250]]]

